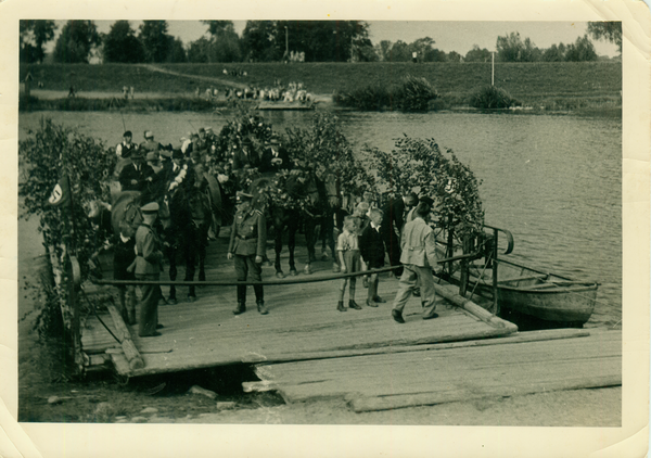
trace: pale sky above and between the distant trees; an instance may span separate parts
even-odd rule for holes
[[[65,21],[56,21],[59,31]],[[114,21],[95,21],[98,30],[108,33]],[[140,22],[130,21],[131,27],[137,29]],[[458,22],[458,21],[369,21],[370,38],[373,44],[382,40],[395,42],[403,40],[410,43],[419,38],[430,37],[437,48],[445,52],[456,51],[465,55],[474,44],[495,50],[498,36],[509,35],[511,31],[520,33],[524,40],[531,38],[540,49],[563,42],[565,44],[576,41],[586,34],[587,23],[571,22]],[[180,38],[188,44],[206,34],[207,26],[199,21],[168,21],[168,33]],[[233,21],[235,31],[241,35],[246,21]],[[55,40],[49,43],[53,48]],[[615,56],[617,47],[608,41],[592,40],[597,54]],[[49,49],[51,50],[51,49]]]

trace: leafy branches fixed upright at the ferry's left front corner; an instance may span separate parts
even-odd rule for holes
[[[101,199],[110,202],[110,170],[115,167],[116,156],[101,141],[86,137],[76,129],[65,128],[50,118],[41,118],[40,127],[29,131],[29,137],[18,144],[21,185],[24,211],[20,217],[39,218],[38,231],[46,249],[53,249],[61,266],[62,282],[55,285],[55,295],[63,310],[63,322],[69,329],[72,310],[67,306],[65,284],[67,255],[77,256],[81,267],[81,280],[90,273],[89,260],[103,245],[105,236],[99,233],[87,216],[87,204]],[[63,175],[69,178],[73,206],[52,206],[48,199]],[[51,285],[43,285],[51,288]],[[51,315],[52,291],[41,314]],[[50,322],[42,319],[39,322]],[[48,331],[47,329],[44,330]]]

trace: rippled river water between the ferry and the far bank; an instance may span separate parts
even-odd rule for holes
[[[275,130],[309,127],[305,112],[265,112]],[[586,327],[622,320],[622,119],[573,115],[481,113],[337,114],[354,147],[391,151],[403,133],[433,138],[455,151],[483,182],[486,224],[510,230],[514,260],[562,276],[601,283]],[[219,132],[228,113],[110,112],[21,114],[20,136],[42,116],[117,144],[122,132],[142,141],[146,129],[162,143],[200,127]]]

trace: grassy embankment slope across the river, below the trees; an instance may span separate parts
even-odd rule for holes
[[[224,71],[227,71],[226,74]],[[231,71],[246,73],[232,76]],[[144,93],[164,93],[165,100],[192,99],[196,89],[201,92],[213,87],[220,90],[242,87],[272,87],[276,80],[283,84],[303,82],[314,94],[347,93],[371,85],[391,86],[405,75],[423,77],[436,89],[441,98],[435,109],[449,109],[469,104],[471,96],[481,87],[489,85],[490,63],[240,63],[240,64],[165,64],[148,65],[29,65],[21,67],[21,80],[30,73],[33,88],[38,82],[42,89],[65,91],[71,85],[85,92],[112,93],[120,98],[124,86],[136,89],[136,98]],[[562,62],[562,63],[497,63],[495,86],[537,111],[559,110],[620,110],[622,106],[622,64],[620,62]],[[214,105],[173,103],[148,99],[145,105],[176,111],[180,105],[187,110],[207,110]],[[79,110],[77,104],[38,101],[28,110]],[[88,106],[87,102],[85,106]],[[92,110],[107,110],[108,104],[95,104]],[[104,107],[103,107],[104,106]],[[24,109],[24,107],[22,107]],[[130,104],[126,110],[142,110]],[[86,109],[88,110],[88,109]]]

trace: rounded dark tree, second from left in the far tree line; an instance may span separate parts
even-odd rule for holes
[[[101,43],[100,34],[92,21],[68,21],[54,46],[54,61],[75,64],[88,63],[91,50]]]

